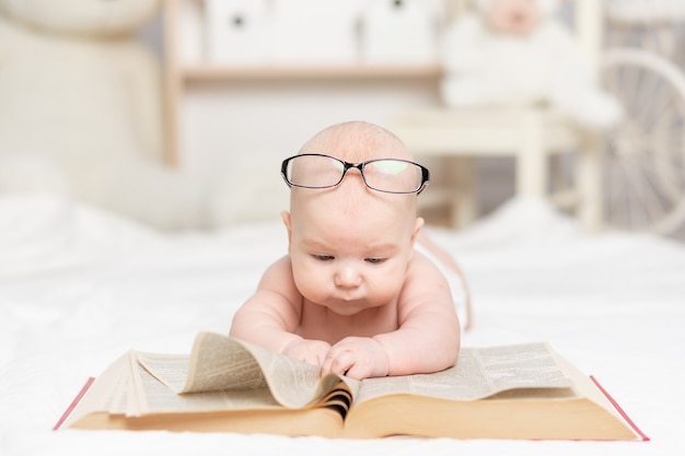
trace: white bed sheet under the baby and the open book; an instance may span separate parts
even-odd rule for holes
[[[683,455],[685,246],[583,233],[538,200],[462,232],[430,229],[468,278],[464,344],[547,340],[595,375],[651,441],[371,441],[50,429],[128,349],[187,352],[225,332],[286,252],[272,223],[166,235],[48,197],[0,197],[0,454]]]

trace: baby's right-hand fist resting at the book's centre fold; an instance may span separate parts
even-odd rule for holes
[[[384,377],[390,372],[385,349],[369,337],[347,337],[328,350],[321,374],[345,374],[362,379]]]

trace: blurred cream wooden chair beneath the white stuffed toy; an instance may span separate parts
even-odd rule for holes
[[[576,0],[573,11],[579,46],[592,65],[599,65],[601,2]],[[572,206],[587,229],[601,226],[601,138],[559,113],[534,106],[438,106],[394,113],[388,124],[417,160],[428,156],[449,159],[445,171],[450,185],[444,191],[431,188],[430,194],[436,198],[426,198],[423,203],[446,199],[453,226],[463,226],[478,217],[474,159],[479,156],[513,156],[518,196],[550,197],[560,206]],[[578,152],[573,187],[549,195],[548,159],[568,150]]]

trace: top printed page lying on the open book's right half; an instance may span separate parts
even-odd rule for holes
[[[355,400],[392,394],[477,400],[515,388],[568,388],[571,384],[546,343],[463,348],[456,365],[438,373],[367,378]]]

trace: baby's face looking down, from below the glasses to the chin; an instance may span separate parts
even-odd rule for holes
[[[404,209],[415,196],[369,190],[361,176],[345,180],[333,190],[295,190],[304,201],[286,219],[300,293],[353,315],[396,302],[421,221]]]

